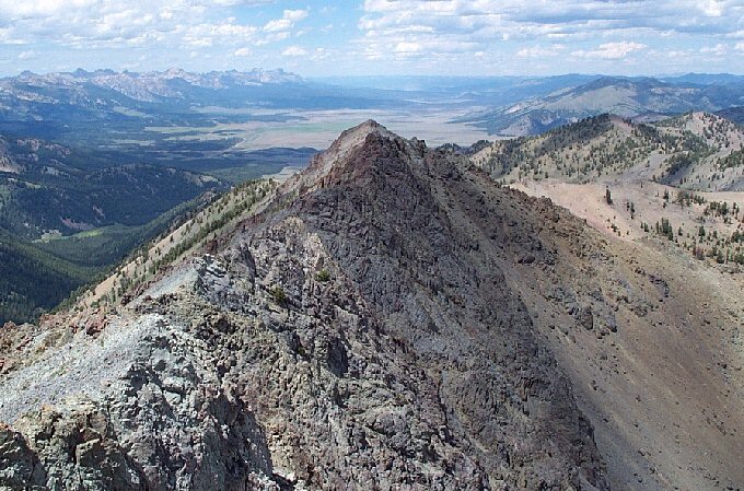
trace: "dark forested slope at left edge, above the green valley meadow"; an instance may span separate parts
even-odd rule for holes
[[[142,225],[202,192],[224,188],[204,174],[112,164],[35,138],[0,135],[0,227],[26,238],[100,226]]]

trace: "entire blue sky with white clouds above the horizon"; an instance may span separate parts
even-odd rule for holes
[[[744,73],[744,0],[0,0],[0,74]]]

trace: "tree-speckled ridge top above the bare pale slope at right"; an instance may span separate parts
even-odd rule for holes
[[[496,141],[474,161],[505,184],[624,178],[700,191],[744,190],[743,147],[744,130],[711,114],[653,124],[600,115],[544,135]]]

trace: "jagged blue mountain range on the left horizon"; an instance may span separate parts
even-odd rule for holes
[[[26,125],[22,128],[31,128],[32,122],[42,121],[48,125],[104,121],[114,128],[139,120],[153,126],[184,120],[206,124],[212,115],[200,115],[193,110],[195,106],[249,107],[257,112],[266,108],[381,107],[386,104],[384,94],[384,91],[360,94],[312,83],[282,70],[23,72],[0,79],[0,115],[3,119],[0,129],[7,131],[12,122],[23,122]]]

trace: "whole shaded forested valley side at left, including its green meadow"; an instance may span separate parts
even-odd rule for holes
[[[189,201],[224,187],[202,174],[0,135],[0,324],[37,319],[167,230],[196,206]]]

